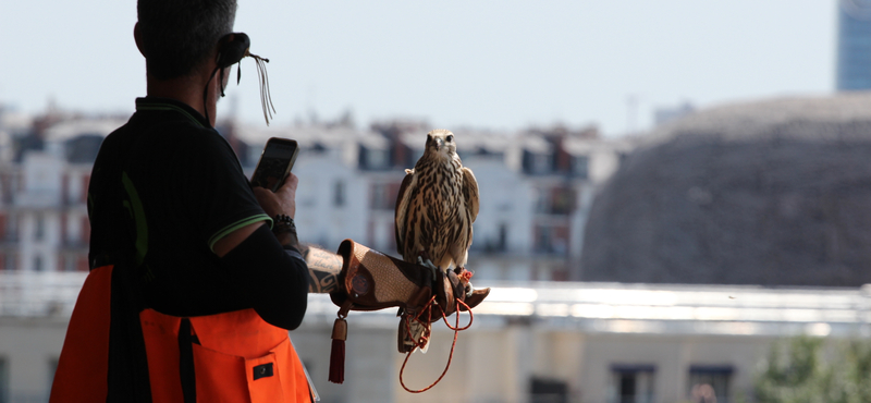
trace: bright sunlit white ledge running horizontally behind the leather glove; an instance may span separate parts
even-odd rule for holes
[[[69,318],[86,272],[0,272],[0,317]],[[593,333],[797,334],[871,332],[863,289],[764,289],[737,285],[579,282],[476,283],[493,286],[475,309],[477,323],[535,320],[542,328]],[[309,295],[307,322],[331,323],[338,307]],[[395,310],[355,313],[370,326],[395,327]]]

